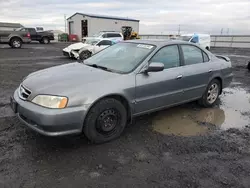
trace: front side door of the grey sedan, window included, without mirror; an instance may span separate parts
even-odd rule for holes
[[[164,64],[161,72],[138,73],[136,75],[136,114],[154,111],[181,101],[181,58],[178,45],[161,48],[151,62]]]

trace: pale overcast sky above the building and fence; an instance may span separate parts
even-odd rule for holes
[[[64,30],[75,12],[140,20],[141,34],[250,34],[250,0],[0,0],[0,22]]]

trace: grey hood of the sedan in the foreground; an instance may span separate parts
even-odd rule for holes
[[[34,72],[22,84],[31,91],[31,98],[39,94],[70,96],[82,89],[85,92],[90,88],[99,89],[103,86],[101,82],[119,76],[83,63],[70,63]]]

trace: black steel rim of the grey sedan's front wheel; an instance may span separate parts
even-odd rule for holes
[[[119,117],[120,114],[115,109],[107,109],[103,111],[96,121],[97,131],[103,135],[112,134],[116,130],[117,125],[119,125]]]

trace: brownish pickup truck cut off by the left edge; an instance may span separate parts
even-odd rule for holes
[[[12,48],[21,48],[23,43],[31,42],[28,31],[0,31],[0,43],[9,44]]]

